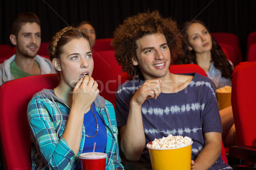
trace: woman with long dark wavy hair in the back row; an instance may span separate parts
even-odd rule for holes
[[[209,29],[199,20],[186,22],[183,25],[184,45],[183,57],[177,59],[176,64],[199,65],[215,85],[221,88],[231,86],[233,64],[227,60],[220,45],[214,40]],[[232,107],[220,111],[223,127],[222,139],[225,146],[236,145],[236,131],[233,120]]]

